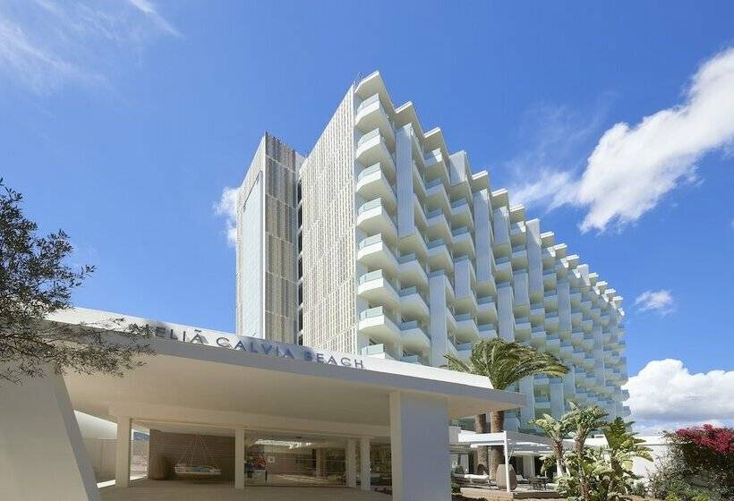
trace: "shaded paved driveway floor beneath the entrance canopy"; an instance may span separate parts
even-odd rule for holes
[[[250,487],[181,480],[134,480],[129,488],[99,489],[102,501],[388,501],[377,492],[336,487]]]

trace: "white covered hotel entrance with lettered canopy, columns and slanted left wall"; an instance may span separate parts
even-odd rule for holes
[[[120,317],[80,309],[54,321],[100,325],[105,318]],[[446,501],[450,497],[449,420],[525,404],[524,395],[494,390],[487,378],[447,369],[144,318],[126,320],[154,328],[149,344],[156,354],[147,358],[140,369],[123,378],[66,374],[64,378],[29,383],[22,386],[22,391],[10,388],[0,394],[0,426],[8,429],[8,442],[4,450],[0,449],[0,460],[7,456],[7,463],[13,464],[11,458],[16,463],[17,458],[24,458],[23,468],[15,472],[7,486],[13,494],[8,498],[59,498],[55,485],[64,480],[69,486],[64,492],[66,499],[101,499],[73,418],[76,409],[117,423],[115,491],[131,484],[134,422],[150,429],[151,437],[155,429],[168,433],[180,429],[181,434],[196,436],[203,434],[196,431],[200,427],[218,430],[212,435],[234,436],[221,446],[218,464],[213,468],[218,470],[217,478],[223,486],[158,480],[160,487],[153,488],[170,484],[171,488],[191,488],[194,492],[196,488],[218,487],[236,496],[226,488],[231,482],[237,490],[261,494],[263,491],[257,489],[262,487],[247,486],[252,437],[320,437],[332,449],[336,448],[335,442],[343,444],[343,485],[353,490],[359,486],[364,491],[354,492],[353,497],[371,496],[371,480],[376,473],[372,445],[382,443],[389,445],[389,482],[394,501]],[[30,421],[29,415],[36,420]],[[153,445],[151,440],[151,449]],[[51,446],[55,453],[47,454]],[[269,455],[276,455],[262,449],[256,452],[253,479],[256,471],[269,470],[268,465],[273,464]],[[161,468],[164,476],[179,478],[179,466],[187,474],[210,466],[206,458],[180,465],[182,455],[183,450],[179,450],[168,456],[171,460]],[[336,453],[327,454],[321,461],[334,457]],[[152,463],[153,454],[150,459]],[[314,458],[314,465],[317,461]],[[38,482],[38,478],[54,478],[55,483]],[[270,487],[266,484],[265,488]],[[131,496],[136,489],[130,488]],[[317,492],[309,490],[311,487],[301,489],[305,496]],[[193,499],[185,494],[175,498]]]

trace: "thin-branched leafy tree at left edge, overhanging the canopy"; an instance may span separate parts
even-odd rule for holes
[[[49,369],[122,375],[139,367],[139,357],[152,354],[142,344],[148,327],[125,326],[123,318],[81,326],[47,320],[72,308],[73,290],[94,267],[66,264],[73,252],[69,237],[61,230],[38,236],[21,202],[21,193],[0,178],[0,380],[20,383]]]

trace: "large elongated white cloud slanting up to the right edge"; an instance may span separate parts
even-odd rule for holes
[[[616,123],[602,134],[583,169],[542,170],[521,195],[546,200],[550,208],[585,208],[583,232],[622,227],[681,184],[697,183],[698,160],[715,150],[729,152],[732,141],[734,47],[701,65],[681,103],[635,124]],[[568,183],[562,190],[560,180]]]

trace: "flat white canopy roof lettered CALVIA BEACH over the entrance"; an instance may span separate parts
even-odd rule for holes
[[[123,315],[76,309],[55,322],[104,326]],[[73,407],[98,417],[208,426],[389,436],[389,398],[445,400],[449,418],[513,409],[524,395],[487,378],[405,362],[314,350],[197,327],[149,325],[154,356],[124,378],[67,374]],[[119,328],[119,327],[117,327]]]

